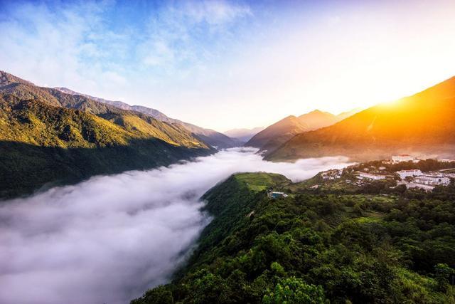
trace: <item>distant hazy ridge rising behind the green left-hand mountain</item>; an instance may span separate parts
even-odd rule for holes
[[[223,133],[216,132],[215,130],[205,129],[203,127],[198,127],[197,125],[192,125],[191,123],[183,122],[181,120],[176,120],[174,118],[166,116],[164,113],[160,112],[159,110],[147,108],[142,105],[128,105],[127,103],[123,103],[122,101],[112,101],[112,100],[106,100],[103,98],[97,98],[94,96],[77,93],[68,88],[55,88],[55,89],[60,90],[61,92],[67,93],[70,95],[85,96],[92,100],[96,100],[100,103],[106,103],[108,105],[113,105],[114,107],[117,107],[117,108],[120,108],[123,110],[132,110],[132,111],[141,112],[145,115],[154,117],[155,119],[160,120],[162,122],[168,122],[168,123],[173,123],[173,124],[178,123],[180,125],[183,125],[183,127],[185,127],[190,132],[192,132],[193,136],[198,137],[200,140],[203,140],[203,142],[205,142],[208,145],[211,145],[213,147],[225,149],[225,148],[230,148],[230,147],[238,147],[238,146],[242,145],[242,142],[240,142],[239,140],[230,138],[230,137],[224,135]]]

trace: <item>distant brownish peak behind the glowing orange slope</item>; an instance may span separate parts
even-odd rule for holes
[[[328,112],[314,110],[299,117],[290,115],[257,133],[245,146],[257,147],[264,151],[273,151],[296,134],[333,125],[349,114],[352,113],[345,112],[341,115],[333,115]]]

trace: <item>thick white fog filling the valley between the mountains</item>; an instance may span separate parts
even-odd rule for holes
[[[147,172],[93,177],[0,204],[0,303],[129,303],[166,283],[210,218],[199,197],[235,172],[294,181],[346,158],[264,162],[231,149]]]

